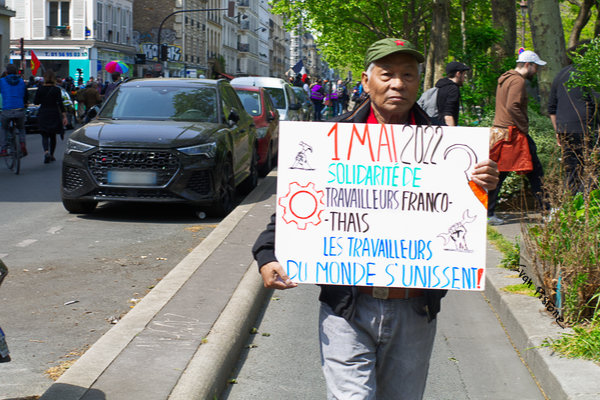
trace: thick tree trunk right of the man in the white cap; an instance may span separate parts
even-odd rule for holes
[[[528,6],[533,47],[548,63],[538,72],[541,110],[545,113],[552,80],[568,62],[565,36],[558,0],[529,0]]]

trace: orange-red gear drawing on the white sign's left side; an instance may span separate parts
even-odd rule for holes
[[[321,213],[325,209],[322,190],[316,190],[314,183],[305,186],[298,182],[290,183],[288,193],[279,198],[279,205],[283,207],[283,220],[286,224],[295,222],[298,229],[305,230],[308,224],[319,225]]]

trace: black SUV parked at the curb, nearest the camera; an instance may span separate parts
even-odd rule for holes
[[[61,192],[71,213],[99,201],[188,203],[224,216],[258,180],[256,129],[226,80],[134,79],[71,134]]]

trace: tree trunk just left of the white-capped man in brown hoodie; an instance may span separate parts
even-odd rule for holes
[[[492,25],[495,29],[503,32],[500,43],[492,48],[495,63],[515,54],[515,43],[517,41],[517,11],[514,0],[491,0]]]

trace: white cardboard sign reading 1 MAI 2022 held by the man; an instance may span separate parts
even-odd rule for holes
[[[483,290],[489,128],[281,122],[275,252],[294,282]]]

